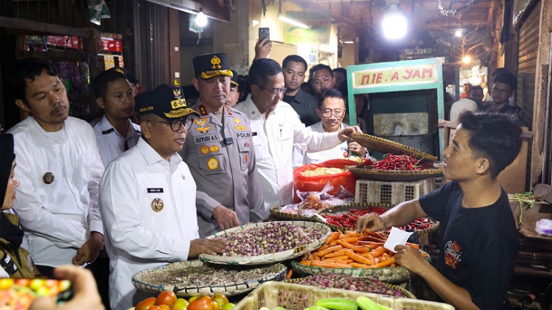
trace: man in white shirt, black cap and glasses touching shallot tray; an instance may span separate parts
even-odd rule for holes
[[[131,281],[138,271],[224,250],[223,242],[199,238],[195,181],[177,153],[197,112],[180,87],[145,92],[135,101],[141,138],[108,165],[99,190],[111,309],[144,299]]]

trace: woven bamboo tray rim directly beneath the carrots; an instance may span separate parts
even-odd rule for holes
[[[420,250],[421,253],[425,253]],[[431,258],[426,256],[426,260],[431,262]],[[293,271],[302,275],[315,274],[315,273],[339,273],[346,274],[348,276],[357,278],[371,278],[376,277],[382,282],[397,283],[410,280],[415,276],[415,273],[411,273],[404,267],[383,267],[383,268],[325,268],[325,267],[312,267],[299,264],[299,262],[292,260],[291,267]]]

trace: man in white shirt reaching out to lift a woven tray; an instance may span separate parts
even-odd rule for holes
[[[236,105],[250,120],[257,172],[267,210],[292,201],[294,143],[308,152],[322,151],[350,139],[353,132],[360,132],[357,126],[339,132],[306,130],[293,107],[282,101],[286,92],[282,72],[282,67],[272,59],[253,61],[248,75],[251,94]]]

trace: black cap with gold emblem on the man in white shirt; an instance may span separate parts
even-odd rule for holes
[[[188,107],[181,87],[166,87],[144,92],[135,97],[135,112],[138,115],[156,114],[163,118],[181,118],[199,114]]]

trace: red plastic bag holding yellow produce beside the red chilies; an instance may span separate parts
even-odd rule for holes
[[[339,174],[327,174],[325,176],[303,176],[301,173],[307,169],[314,170],[319,167],[345,169],[345,166],[356,166],[356,161],[347,159],[332,159],[318,164],[306,164],[297,167],[293,170],[293,203],[300,203],[301,199],[297,196],[299,192],[322,192],[327,183],[333,186],[333,189],[328,192],[331,196],[339,194],[340,186],[344,187],[351,194],[355,194],[357,177],[345,170]]]

